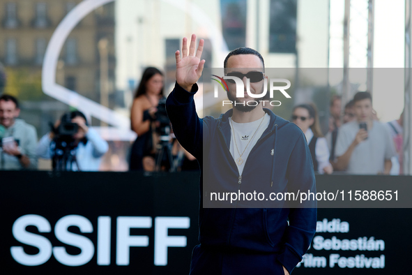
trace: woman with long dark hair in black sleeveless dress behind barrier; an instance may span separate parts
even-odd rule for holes
[[[132,131],[137,133],[130,152],[130,170],[154,170],[157,142],[154,129],[156,124],[160,124],[156,113],[159,101],[163,98],[163,78],[160,70],[148,67],[137,87],[130,113]]]

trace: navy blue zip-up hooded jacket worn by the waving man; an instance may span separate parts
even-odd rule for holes
[[[229,151],[232,110],[219,119],[199,119],[192,91],[177,83],[167,98],[167,114],[178,141],[197,158],[201,167],[199,241],[202,246],[254,253],[273,253],[289,273],[302,260],[316,231],[314,208],[204,208],[208,194],[204,179],[221,190],[237,192],[316,193],[312,157],[305,135],[289,121],[270,115],[268,128],[250,151],[238,184],[238,168]],[[258,175],[258,176],[257,176]],[[240,187],[241,186],[241,187]],[[287,219],[289,218],[289,224]],[[192,260],[193,261],[193,260]]]

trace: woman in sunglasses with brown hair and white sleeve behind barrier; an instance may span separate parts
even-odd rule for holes
[[[332,174],[333,167],[329,162],[328,142],[321,133],[316,107],[312,104],[293,107],[292,122],[305,133],[312,154],[314,171],[319,174]]]

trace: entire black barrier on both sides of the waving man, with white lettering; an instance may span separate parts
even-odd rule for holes
[[[1,274],[188,274],[199,173],[0,176]],[[411,179],[317,176],[316,185]],[[293,274],[408,274],[411,212],[318,209],[314,241]]]

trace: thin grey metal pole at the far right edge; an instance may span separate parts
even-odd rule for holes
[[[404,109],[404,174],[412,174],[411,147],[411,0],[405,0],[405,109]]]

